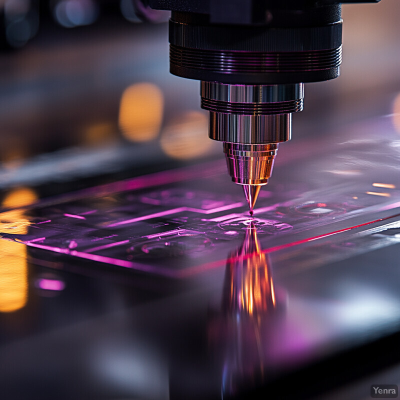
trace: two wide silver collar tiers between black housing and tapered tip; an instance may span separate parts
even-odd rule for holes
[[[209,110],[209,137],[230,143],[267,144],[290,139],[291,113],[301,111],[303,84],[234,85],[201,82]]]

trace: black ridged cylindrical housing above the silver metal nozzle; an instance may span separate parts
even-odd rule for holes
[[[234,84],[335,78],[341,63],[340,4],[271,9],[255,24],[211,23],[207,14],[173,11],[170,72]]]

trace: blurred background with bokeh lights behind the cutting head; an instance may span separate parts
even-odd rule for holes
[[[168,13],[141,22],[133,3],[1,0],[0,189],[52,194],[222,157],[199,83],[168,72]],[[342,74],[306,85],[290,145],[393,106],[399,18],[398,0],[343,6]]]

